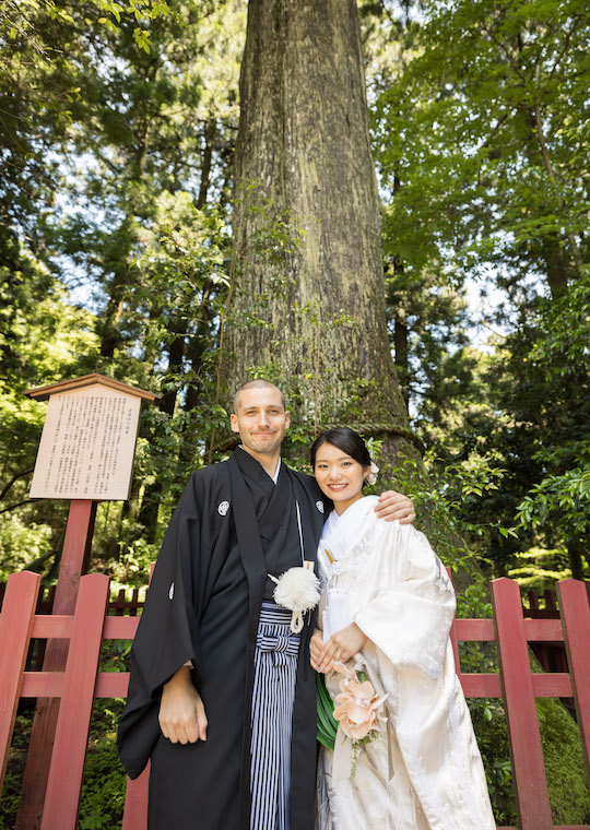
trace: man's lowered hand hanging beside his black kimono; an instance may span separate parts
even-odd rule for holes
[[[158,721],[162,734],[173,744],[206,740],[206,714],[188,666],[180,666],[164,686]]]

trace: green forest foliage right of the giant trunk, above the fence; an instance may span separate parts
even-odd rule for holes
[[[390,328],[415,428],[440,470],[481,454],[504,469],[502,490],[468,508],[491,527],[482,538],[496,573],[541,544],[567,546],[580,576],[588,10],[557,0],[363,9]],[[477,322],[493,332],[485,351],[468,345]]]

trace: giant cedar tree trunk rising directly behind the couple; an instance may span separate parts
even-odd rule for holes
[[[262,369],[307,399],[318,428],[350,424],[414,454],[355,0],[250,0],[240,96],[228,392]]]

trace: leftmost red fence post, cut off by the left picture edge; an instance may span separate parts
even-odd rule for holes
[[[4,783],[39,583],[38,573],[28,571],[9,577],[0,615],[0,792]]]

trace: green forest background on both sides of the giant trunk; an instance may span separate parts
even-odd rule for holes
[[[358,9],[388,334],[428,473],[406,459],[387,478],[470,573],[461,613],[488,614],[482,574],[536,590],[590,578],[590,12],[581,0]],[[190,472],[224,456],[224,323],[238,344],[264,325],[228,317],[246,16],[246,0],[0,10],[0,580],[27,568],[55,581],[67,520],[66,503],[27,498],[45,408],[25,390],[101,371],[162,395],[142,415],[131,498],[98,507],[92,569],[115,588],[145,585]],[[272,218],[255,253],[280,266],[302,239],[272,208],[259,205]],[[305,469],[331,391],[314,372],[280,380],[296,403],[287,456]],[[379,461],[379,430],[371,447]],[[98,721],[113,730],[108,707]],[[510,820],[500,708],[473,714],[496,730],[479,739]],[[84,828],[110,826],[121,805],[111,734],[102,750]],[[564,757],[553,790],[574,803]],[[590,810],[578,801],[568,821]]]

